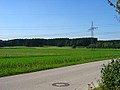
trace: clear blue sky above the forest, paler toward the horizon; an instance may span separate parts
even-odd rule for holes
[[[115,0],[113,0],[115,1]],[[107,0],[0,0],[0,39],[90,37],[120,39],[120,22]]]

